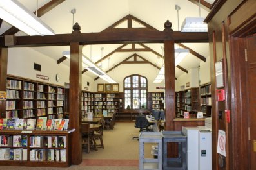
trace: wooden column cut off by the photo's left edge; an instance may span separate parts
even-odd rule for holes
[[[0,91],[6,91],[8,48],[0,47]],[[0,101],[0,117],[5,117],[5,101]]]

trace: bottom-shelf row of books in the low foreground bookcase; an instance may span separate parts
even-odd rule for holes
[[[27,149],[0,149],[0,160],[28,160]],[[66,162],[66,149],[32,149],[30,161],[61,161]]]

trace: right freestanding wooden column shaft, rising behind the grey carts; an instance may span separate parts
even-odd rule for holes
[[[175,56],[174,41],[164,41],[164,69],[165,69],[165,129],[174,130],[175,118]]]

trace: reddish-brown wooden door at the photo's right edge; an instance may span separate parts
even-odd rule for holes
[[[249,154],[251,156],[251,169],[256,169],[256,34],[246,38],[246,46],[248,57],[248,121],[250,124]]]

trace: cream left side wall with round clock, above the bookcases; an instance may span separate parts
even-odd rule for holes
[[[34,70],[34,62],[41,65],[41,71]],[[55,80],[56,74],[60,75],[60,81]],[[64,64],[57,64],[56,61],[45,56],[30,47],[9,48],[7,74],[28,78],[36,81],[43,81],[64,86],[69,83],[69,67]],[[49,80],[36,78],[36,74],[48,76]],[[90,83],[89,91],[94,90],[94,80],[83,74],[82,90]]]

